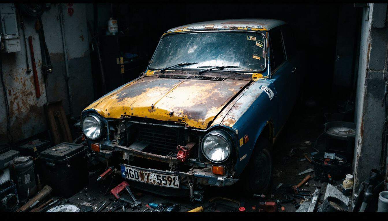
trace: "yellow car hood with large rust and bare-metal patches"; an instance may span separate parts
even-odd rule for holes
[[[88,106],[105,118],[138,116],[184,122],[206,129],[209,122],[249,81],[158,78],[151,75],[125,84]]]

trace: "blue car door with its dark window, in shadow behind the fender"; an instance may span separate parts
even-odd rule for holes
[[[297,67],[295,67],[291,57],[290,59],[287,57],[283,33],[285,34],[280,27],[269,32],[270,81],[274,84],[279,102],[278,122],[274,122],[276,133],[286,123],[296,101],[299,88],[297,78],[294,77]]]

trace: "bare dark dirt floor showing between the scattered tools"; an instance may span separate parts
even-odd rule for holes
[[[180,212],[189,211],[198,206],[208,206],[210,202],[209,199],[212,197],[227,197],[230,199],[238,200],[240,206],[244,206],[247,212],[252,212],[252,206],[258,205],[262,201],[275,201],[275,200],[284,200],[284,192],[277,190],[276,187],[280,183],[284,185],[296,185],[298,184],[306,175],[310,174],[312,178],[308,181],[310,185],[306,187],[303,185],[301,189],[307,189],[311,191],[311,194],[314,192],[316,187],[321,187],[321,195],[319,204],[323,202],[324,193],[326,191],[327,183],[319,183],[314,181],[314,172],[307,173],[304,175],[297,175],[301,171],[307,170],[309,168],[314,169],[314,166],[309,163],[307,160],[300,161],[305,159],[303,154],[307,153],[307,156],[311,158],[310,153],[316,152],[312,146],[317,139],[317,137],[323,132],[324,118],[322,114],[311,114],[301,111],[302,109],[295,108],[292,115],[290,116],[288,122],[283,128],[281,134],[279,135],[277,141],[275,142],[273,149],[273,160],[274,160],[274,176],[273,176],[273,185],[272,190],[266,195],[265,199],[259,199],[255,197],[242,197],[239,191],[239,186],[232,186],[227,188],[208,188],[206,189],[204,200],[200,202],[190,202],[189,197],[161,197],[159,195],[150,194],[143,190],[138,190],[132,188],[132,191],[135,193],[135,196],[140,202],[142,202],[142,207],[132,210],[130,207],[126,209],[126,212],[143,212],[147,207],[145,206],[148,203],[154,202],[157,204],[164,202],[179,203]],[[309,141],[310,144],[305,142]],[[308,143],[308,142],[307,142]],[[319,146],[317,147],[320,148]],[[291,152],[291,154],[290,154]],[[113,204],[113,196],[105,192],[109,186],[109,179],[104,180],[102,183],[97,183],[95,180],[100,172],[90,173],[90,181],[88,187],[84,190],[81,190],[73,197],[69,199],[61,199],[60,204],[73,204],[78,206],[83,204],[85,206],[91,206],[94,209],[94,212],[103,204],[103,202],[109,202],[102,212],[106,212],[111,208]],[[120,182],[120,180],[118,181]],[[333,183],[334,186],[337,186],[340,189],[340,184],[342,180],[338,180]],[[117,185],[116,183],[115,185]],[[113,187],[115,186],[113,185]],[[261,195],[262,193],[257,193]],[[271,195],[274,197],[271,199]],[[126,198],[131,199],[128,195]],[[55,199],[55,197],[53,197]],[[89,200],[88,200],[89,199]],[[281,203],[281,206],[284,206],[286,212],[295,212],[296,207],[300,201],[303,199],[296,198],[296,203],[292,204]],[[238,205],[233,202],[228,202],[225,200],[217,201],[225,205],[229,205],[230,208],[224,206],[216,206],[206,208],[204,212],[232,212],[237,211]],[[318,204],[318,205],[319,205]],[[122,212],[121,209],[118,209],[116,212]]]

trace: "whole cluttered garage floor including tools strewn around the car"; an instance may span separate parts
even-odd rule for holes
[[[129,193],[116,187],[123,181],[121,177],[97,181],[104,170],[90,168],[89,184],[75,195],[65,198],[55,191],[39,201],[34,198],[27,203],[27,200],[20,201],[19,210],[44,212],[55,207],[55,211],[77,211],[79,208],[83,212],[307,212],[311,200],[317,200],[319,208],[327,196],[336,196],[348,203],[349,198],[341,193],[345,177],[335,181],[317,178],[310,162],[312,154],[324,152],[323,145],[315,144],[324,130],[325,120],[323,114],[309,114],[299,106],[294,108],[273,147],[273,184],[265,195],[258,192],[251,197],[242,197],[237,183],[226,189],[210,187],[205,191],[202,202],[191,202],[189,197],[163,197],[130,187],[135,199],[141,203],[134,207]],[[293,188],[295,185],[298,185],[299,191]],[[128,202],[117,200],[111,190]]]

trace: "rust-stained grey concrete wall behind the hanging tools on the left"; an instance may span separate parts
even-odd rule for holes
[[[69,66],[69,84],[71,87],[72,116],[79,116],[85,106],[94,100],[90,55],[88,45],[88,29],[86,25],[86,5],[73,4],[74,14],[68,14],[68,6],[62,4],[64,14],[64,33],[66,38],[66,53]],[[59,5],[51,4],[51,8],[42,15],[47,48],[50,53],[53,72],[47,77],[45,89],[44,77],[40,70],[42,58],[39,37],[35,31],[36,19],[24,16],[26,38],[33,37],[34,55],[40,92],[36,98],[33,74],[26,73],[26,60],[22,29],[19,27],[22,50],[16,53],[2,53],[3,75],[10,106],[11,133],[14,142],[47,130],[46,116],[43,105],[50,101],[61,99],[66,114],[70,113],[66,86],[66,69],[64,48],[62,44]],[[28,47],[28,59],[31,67],[31,56]],[[0,86],[1,87],[1,86]],[[47,94],[46,94],[47,91]],[[0,144],[7,142],[6,114],[3,93],[0,93]]]

